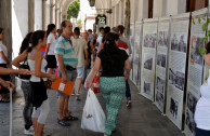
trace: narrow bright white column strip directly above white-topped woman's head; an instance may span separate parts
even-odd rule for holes
[[[42,30],[42,0],[35,0],[35,30]]]

